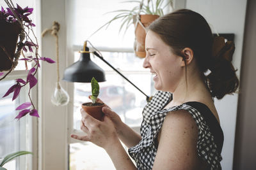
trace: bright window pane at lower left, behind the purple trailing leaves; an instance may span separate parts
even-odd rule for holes
[[[24,75],[25,76],[25,75]],[[20,76],[19,76],[20,78]],[[4,96],[5,92],[15,83],[15,80],[2,80],[0,82],[0,95]],[[26,90],[20,91],[19,97],[12,101],[12,95],[0,99],[0,158],[18,152],[21,150],[31,151],[32,141],[32,119],[31,117],[15,119],[18,111],[15,108],[26,102]],[[23,155],[4,165],[6,169],[22,170],[31,168],[31,155]]]

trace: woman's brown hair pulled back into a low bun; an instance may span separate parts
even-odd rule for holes
[[[236,92],[239,85],[236,70],[231,61],[223,57],[225,53],[228,55],[226,58],[232,59],[234,50],[230,48],[234,49],[234,43],[228,41],[229,43],[221,49],[222,53],[212,56],[214,39],[211,28],[202,15],[191,10],[177,10],[158,18],[148,29],[156,32],[164,43],[171,46],[176,55],[184,58],[181,53],[184,48],[193,50],[200,72],[211,71],[205,76],[205,83],[212,97],[221,99],[225,94]]]

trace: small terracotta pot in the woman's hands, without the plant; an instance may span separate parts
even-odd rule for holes
[[[102,112],[102,108],[105,106],[104,103],[100,103],[102,105],[100,106],[86,106],[88,103],[83,103],[82,108],[86,113],[91,115],[92,117],[102,121],[102,118],[104,116],[104,113]],[[92,102],[89,102],[89,104],[92,104]]]

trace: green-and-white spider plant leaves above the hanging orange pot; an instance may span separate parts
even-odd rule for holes
[[[135,15],[148,14],[148,15],[159,15],[161,17],[164,15],[163,13],[164,8],[166,8],[167,6],[173,6],[173,0],[147,0],[146,3],[143,0],[141,1],[131,0],[131,1],[123,1],[122,3],[134,3],[135,6],[134,8],[132,8],[132,10],[109,11],[108,13],[116,13],[115,17],[113,17],[111,20],[109,20],[104,25],[99,27],[99,29],[93,32],[93,34],[95,34],[97,31],[99,31],[103,27],[106,27],[106,29],[108,29],[109,25],[115,20],[121,20],[119,32],[122,29],[124,29],[124,34],[125,34],[127,29],[133,24],[133,18]]]

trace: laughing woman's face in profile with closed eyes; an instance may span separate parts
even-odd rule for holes
[[[154,75],[156,90],[174,92],[184,75],[182,57],[175,55],[170,46],[153,31],[148,31],[145,39],[147,55],[143,67]]]

